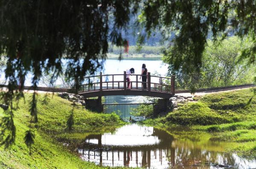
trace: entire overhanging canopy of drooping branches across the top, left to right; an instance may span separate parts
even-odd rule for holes
[[[93,73],[105,59],[108,42],[124,45],[122,29],[131,14],[141,11],[139,41],[155,29],[163,35],[175,32],[172,46],[166,51],[167,62],[175,69],[199,70],[208,37],[217,39],[233,32],[251,37],[253,45],[243,52],[255,62],[255,0],[2,0],[0,1],[0,56],[7,57],[6,79],[9,91],[3,98],[12,110],[17,85],[24,85],[26,74],[34,75],[36,87],[42,71],[58,76],[61,59],[69,59],[66,76],[75,79],[78,88],[86,73]],[[113,18],[113,24],[108,20]],[[35,94],[30,107],[37,121]],[[13,114],[2,121],[2,144],[13,142]],[[7,125],[8,124],[8,125]],[[6,132],[6,131],[10,132]],[[6,135],[7,133],[7,135]],[[8,134],[9,133],[9,134]],[[26,139],[27,140],[27,139]]]

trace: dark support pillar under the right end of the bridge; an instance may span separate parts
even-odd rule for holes
[[[170,102],[169,99],[158,99],[157,104],[154,104],[153,106],[154,117],[157,117],[160,113],[166,113],[170,110],[171,103],[172,102]]]

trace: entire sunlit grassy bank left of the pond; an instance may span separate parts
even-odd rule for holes
[[[103,126],[112,128],[124,124],[118,116],[93,113],[58,96],[38,94],[37,99],[37,124],[30,123],[29,104],[32,94],[26,93],[24,99],[14,104],[18,107],[14,110],[15,144],[8,149],[0,147],[0,168],[108,168],[82,161],[78,155],[57,140],[67,138],[72,133],[74,136],[79,136],[89,130],[99,132]],[[73,130],[69,131],[66,123],[72,112],[74,126]],[[0,116],[4,115],[3,110],[0,110]],[[36,134],[31,155],[24,143],[25,131],[29,130],[29,126],[35,130]]]

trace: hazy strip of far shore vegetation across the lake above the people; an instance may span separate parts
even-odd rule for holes
[[[129,46],[129,55],[136,55],[136,54],[153,54],[153,55],[160,55],[163,54],[165,46],[141,46],[138,48],[137,46]],[[110,54],[124,54],[124,47],[117,47],[117,46],[109,46],[108,52]]]

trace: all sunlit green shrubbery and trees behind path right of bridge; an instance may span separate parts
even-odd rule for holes
[[[229,37],[222,41],[207,41],[199,72],[184,72],[169,66],[169,74],[175,74],[177,89],[221,87],[228,85],[250,84],[253,82],[255,68],[247,61],[239,61],[241,51],[248,45],[238,37]],[[163,61],[168,63],[168,57]]]

